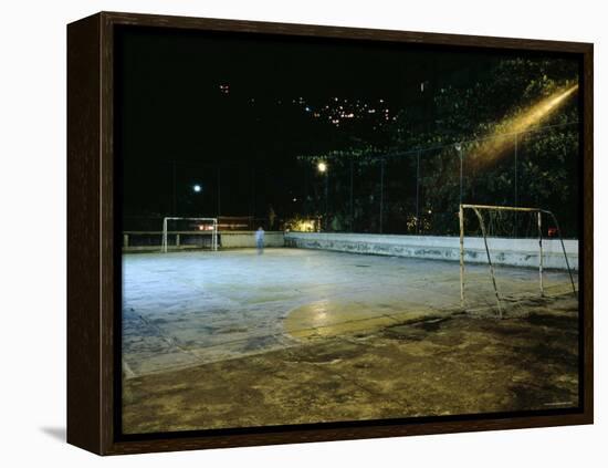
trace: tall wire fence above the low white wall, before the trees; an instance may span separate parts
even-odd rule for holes
[[[301,217],[318,218],[323,231],[458,236],[461,202],[537,207],[578,238],[578,126],[567,124],[373,157],[303,157]],[[523,236],[517,226],[503,235]]]

